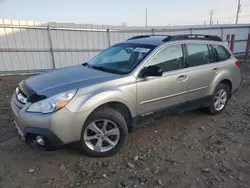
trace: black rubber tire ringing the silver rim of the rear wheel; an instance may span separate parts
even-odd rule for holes
[[[215,102],[217,101],[217,96],[219,95],[219,92],[221,91],[225,91],[226,92],[226,100],[225,100],[225,104],[224,106],[221,108],[219,108],[219,106],[217,106],[216,108],[216,104]],[[210,114],[212,115],[218,115],[220,113],[223,112],[223,110],[225,109],[225,107],[227,106],[227,103],[228,103],[228,99],[230,98],[230,87],[227,85],[227,84],[224,84],[224,83],[220,83],[216,88],[215,88],[215,91],[214,91],[214,94],[213,94],[213,98],[212,98],[212,101],[211,101],[211,104],[208,108]],[[224,100],[224,99],[223,99]]]

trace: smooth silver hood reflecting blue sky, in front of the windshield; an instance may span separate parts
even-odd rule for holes
[[[37,95],[46,97],[55,94],[95,85],[121,77],[121,75],[95,70],[83,65],[71,66],[49,71],[25,80],[25,88]]]

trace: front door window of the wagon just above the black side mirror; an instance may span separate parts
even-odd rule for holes
[[[150,65],[158,66],[163,72],[184,68],[182,46],[170,46],[156,54]]]

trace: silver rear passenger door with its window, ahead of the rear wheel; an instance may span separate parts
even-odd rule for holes
[[[216,58],[206,43],[187,42],[188,91],[187,100],[194,105],[202,105],[209,100],[209,86],[219,73]]]

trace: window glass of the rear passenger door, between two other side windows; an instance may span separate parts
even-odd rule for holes
[[[206,44],[187,44],[188,66],[194,67],[212,63],[214,60]]]

